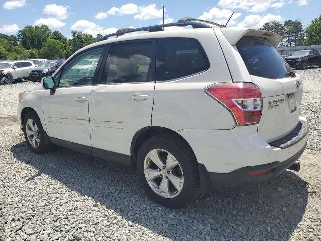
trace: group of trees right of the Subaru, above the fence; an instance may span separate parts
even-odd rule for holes
[[[301,46],[321,44],[321,15],[303,29],[299,20],[287,20],[284,23],[272,21],[261,28],[282,36],[280,46]]]

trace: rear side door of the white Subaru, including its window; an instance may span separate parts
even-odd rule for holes
[[[121,161],[135,133],[151,126],[155,40],[113,43],[106,57],[89,96],[92,152]]]

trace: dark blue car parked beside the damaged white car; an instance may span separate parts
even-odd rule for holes
[[[32,81],[40,81],[43,77],[51,76],[65,62],[64,59],[47,60],[29,72]]]

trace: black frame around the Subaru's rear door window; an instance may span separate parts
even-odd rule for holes
[[[135,42],[146,42],[146,41],[151,41],[151,79],[153,79],[152,81],[147,81],[147,82],[128,82],[128,83],[101,83],[101,79],[102,79],[102,75],[103,75],[103,71],[105,68],[105,64],[110,52],[110,49],[113,45],[117,45],[117,44],[126,44],[126,43],[135,43]],[[108,47],[107,47],[107,51],[106,54],[103,58],[103,61],[101,63],[101,67],[99,69],[99,74],[98,74],[98,78],[96,79],[96,83],[95,85],[115,85],[115,84],[145,84],[145,83],[155,83],[156,82],[156,39],[134,39],[134,40],[125,40],[125,41],[119,41],[119,42],[113,42],[113,43],[109,43]]]

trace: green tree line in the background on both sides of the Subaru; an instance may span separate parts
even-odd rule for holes
[[[261,28],[282,36],[280,46],[300,46],[321,44],[321,15],[303,29],[299,20],[284,23],[272,21]],[[17,35],[0,34],[0,59],[68,58],[78,49],[102,37],[72,31],[67,39],[61,32],[51,31],[47,25],[27,25]]]

